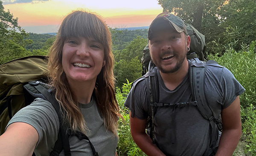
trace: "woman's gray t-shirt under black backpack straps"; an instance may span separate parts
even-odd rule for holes
[[[99,156],[115,156],[118,138],[105,128],[95,100],[92,98],[89,104],[79,104],[79,107],[90,130],[87,136]],[[49,156],[58,138],[59,129],[57,113],[49,101],[41,98],[35,99],[32,104],[16,113],[8,125],[14,122],[25,122],[35,127],[39,136],[35,154],[36,156]],[[69,141],[72,156],[93,156],[87,140],[80,141],[76,136],[70,136]],[[60,156],[64,156],[63,151]]]

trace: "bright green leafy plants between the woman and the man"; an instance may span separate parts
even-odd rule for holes
[[[127,84],[123,84],[122,92],[119,88],[116,89],[116,100],[118,102],[121,114],[124,117],[125,122],[119,118],[118,125],[118,135],[119,142],[117,145],[117,154],[118,156],[146,156],[142,150],[135,144],[131,136],[130,130],[130,117],[129,109],[124,107],[125,99],[128,95],[128,92],[131,89],[131,83],[127,80]]]

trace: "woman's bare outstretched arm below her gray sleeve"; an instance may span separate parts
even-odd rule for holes
[[[32,156],[38,133],[30,124],[15,122],[0,136],[1,156]]]

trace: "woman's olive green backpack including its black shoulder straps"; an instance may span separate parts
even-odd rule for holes
[[[4,133],[6,125],[15,113],[31,104],[35,98],[43,98],[55,108],[60,123],[58,139],[50,156],[58,156],[62,149],[65,156],[71,156],[68,139],[70,135],[77,136],[79,140],[88,140],[93,155],[98,156],[87,136],[67,129],[67,125],[62,121],[60,106],[52,95],[52,87],[44,83],[47,82],[47,71],[47,56],[28,56],[0,65],[0,135]]]

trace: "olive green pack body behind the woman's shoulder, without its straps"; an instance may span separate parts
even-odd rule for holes
[[[0,65],[0,135],[10,118],[25,107],[23,84],[47,78],[46,56],[29,56]]]

